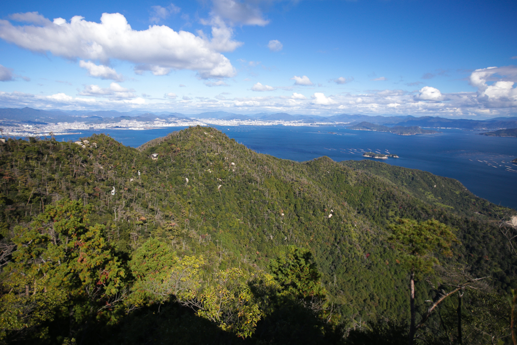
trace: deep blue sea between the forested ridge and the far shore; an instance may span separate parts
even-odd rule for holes
[[[163,137],[185,127],[148,130],[111,129],[101,132],[129,146]],[[517,209],[517,138],[479,136],[478,131],[440,129],[437,134],[397,136],[356,131],[342,126],[232,126],[215,128],[256,152],[278,158],[306,161],[328,156],[335,161],[373,159],[362,152],[396,154],[381,161],[458,179],[478,197]],[[57,136],[77,140],[99,131]]]

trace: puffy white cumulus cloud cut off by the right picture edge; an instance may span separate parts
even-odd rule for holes
[[[478,88],[477,98],[487,107],[517,107],[517,67],[488,67],[470,74],[470,84]],[[492,84],[489,84],[492,82]]]

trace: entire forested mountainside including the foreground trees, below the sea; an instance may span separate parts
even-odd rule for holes
[[[3,343],[515,343],[515,210],[454,179],[199,126],[6,138],[0,177]]]

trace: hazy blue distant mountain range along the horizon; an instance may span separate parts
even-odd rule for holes
[[[10,122],[20,123],[58,123],[58,122],[86,122],[86,123],[114,123],[123,119],[133,119],[136,121],[153,121],[156,118],[215,118],[221,120],[258,120],[258,121],[299,121],[307,124],[313,123],[346,123],[351,126],[361,122],[368,122],[373,125],[387,127],[423,127],[423,128],[465,128],[465,129],[507,129],[517,127],[517,116],[515,117],[496,117],[488,120],[472,119],[450,119],[444,117],[423,116],[370,116],[362,114],[340,114],[332,116],[300,115],[287,113],[258,113],[254,115],[234,114],[225,111],[204,112],[200,114],[181,114],[176,112],[156,112],[145,111],[118,112],[109,111],[60,111],[60,110],[38,110],[32,108],[3,108],[0,109],[0,123],[9,126]]]

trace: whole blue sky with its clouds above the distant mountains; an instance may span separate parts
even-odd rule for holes
[[[8,2],[0,107],[517,116],[515,1]]]

